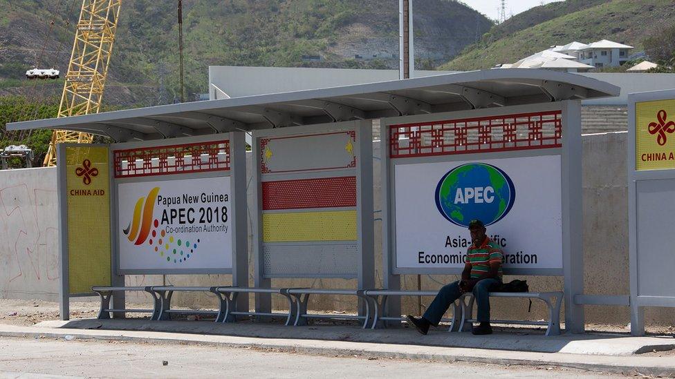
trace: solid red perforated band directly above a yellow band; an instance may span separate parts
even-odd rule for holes
[[[263,210],[356,206],[356,177],[263,182]]]

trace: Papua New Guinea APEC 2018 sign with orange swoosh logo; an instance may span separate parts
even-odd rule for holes
[[[120,269],[231,269],[230,177],[118,186]]]

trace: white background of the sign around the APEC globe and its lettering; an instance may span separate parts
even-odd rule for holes
[[[448,237],[451,240],[470,240],[469,231],[446,220],[436,208],[434,196],[436,186],[445,173],[468,163],[497,166],[511,178],[515,186],[515,203],[510,212],[503,219],[487,226],[488,235],[499,235],[505,239],[502,241],[506,244],[503,251],[507,255],[504,266],[562,268],[560,155],[396,164],[396,266],[464,266],[456,259],[458,255],[466,253],[467,247],[446,246],[446,241]],[[422,263],[420,252],[424,252]],[[436,256],[436,262],[427,262],[425,255]],[[443,259],[447,255],[450,259]],[[535,258],[536,263],[533,263]]]

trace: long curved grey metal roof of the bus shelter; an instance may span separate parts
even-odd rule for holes
[[[620,88],[581,75],[501,69],[172,104],[7,124],[111,137],[116,142],[226,133],[351,119],[452,112],[618,96]]]

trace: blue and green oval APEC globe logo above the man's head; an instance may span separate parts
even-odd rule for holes
[[[471,220],[488,226],[503,219],[516,199],[513,182],[500,168],[469,163],[453,168],[436,186],[436,208],[455,225]]]

